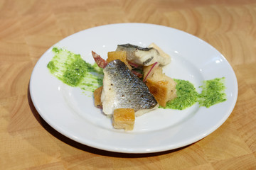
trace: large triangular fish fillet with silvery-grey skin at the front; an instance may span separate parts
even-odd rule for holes
[[[102,89],[103,113],[110,115],[116,108],[134,111],[156,108],[158,103],[144,82],[120,60],[109,62],[104,72]]]

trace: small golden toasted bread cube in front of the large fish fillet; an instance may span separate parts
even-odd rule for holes
[[[135,112],[132,108],[114,109],[113,126],[116,129],[133,130]]]

